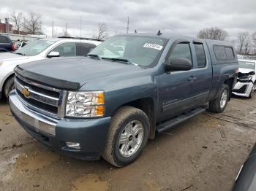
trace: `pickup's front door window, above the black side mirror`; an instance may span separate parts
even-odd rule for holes
[[[192,56],[189,43],[180,43],[174,47],[173,52],[170,53],[170,59],[173,58],[187,58],[192,63]]]

